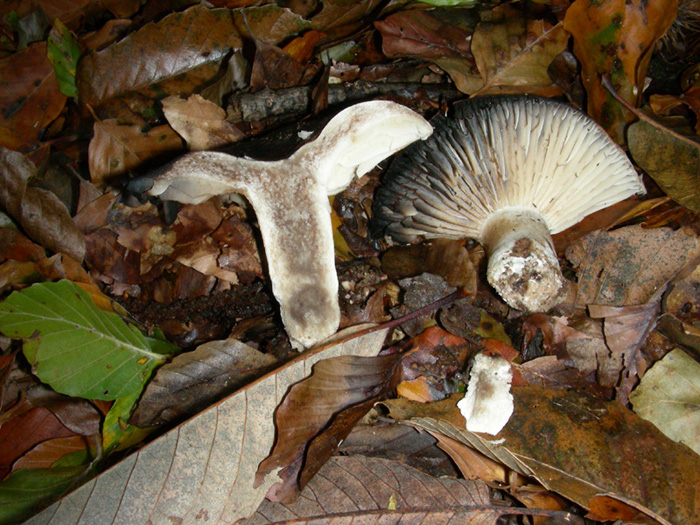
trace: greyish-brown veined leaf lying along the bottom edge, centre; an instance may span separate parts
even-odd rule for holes
[[[506,514],[507,508],[491,506],[485,483],[434,478],[399,461],[353,456],[331,458],[295,503],[265,500],[244,523],[487,525]]]

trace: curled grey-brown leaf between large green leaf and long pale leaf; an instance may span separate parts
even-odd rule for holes
[[[182,421],[262,375],[276,359],[237,341],[210,341],[156,371],[129,419],[149,427]]]

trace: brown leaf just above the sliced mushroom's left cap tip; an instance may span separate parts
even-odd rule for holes
[[[144,133],[138,126],[122,126],[116,119],[96,121],[88,147],[90,178],[95,184],[122,175],[158,155],[182,149],[173,129],[164,124]]]

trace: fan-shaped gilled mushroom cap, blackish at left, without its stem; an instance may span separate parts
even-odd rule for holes
[[[375,199],[377,236],[482,241],[488,217],[508,207],[534,208],[557,233],[645,192],[622,149],[567,104],[481,97],[431,124],[433,135],[407,148],[384,176]]]

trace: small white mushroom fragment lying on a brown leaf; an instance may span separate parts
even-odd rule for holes
[[[506,426],[514,410],[512,381],[513,371],[508,361],[500,356],[477,354],[467,393],[457,403],[467,420],[467,430],[495,436]]]

